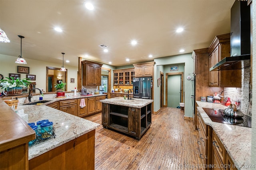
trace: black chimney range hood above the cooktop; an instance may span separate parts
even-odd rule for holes
[[[250,6],[236,0],[231,8],[230,56],[210,68],[210,71],[238,70],[250,66]]]

